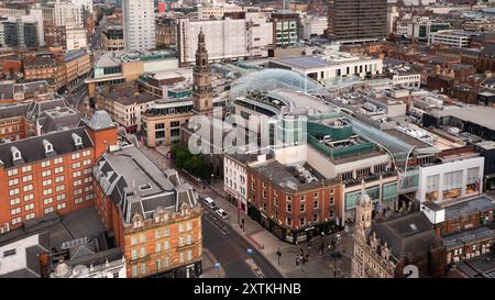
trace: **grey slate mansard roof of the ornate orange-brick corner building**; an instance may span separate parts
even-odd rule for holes
[[[197,204],[193,187],[182,184],[176,170],[163,173],[132,144],[105,154],[94,174],[103,191],[120,207],[125,224],[136,213],[147,219],[155,211],[177,212],[183,203]]]

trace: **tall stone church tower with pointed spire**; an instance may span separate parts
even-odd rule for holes
[[[196,49],[196,66],[194,68],[193,112],[211,116],[213,114],[213,100],[211,99],[211,67],[208,64],[205,34],[202,29],[198,35]]]

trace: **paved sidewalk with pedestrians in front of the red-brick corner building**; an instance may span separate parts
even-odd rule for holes
[[[309,249],[309,259],[305,265],[296,265],[296,256],[302,248],[305,253],[308,252],[308,244],[301,243],[299,245],[292,245],[278,240],[275,235],[267,232],[257,222],[250,216],[241,213],[244,218],[245,232],[239,225],[238,209],[235,205],[224,199],[223,182],[218,182],[215,186],[206,185],[207,190],[201,193],[213,192],[213,199],[217,205],[229,214],[229,224],[241,236],[246,238],[250,244],[256,247],[270,263],[278,269],[284,277],[309,277],[309,278],[329,278],[333,277],[333,259],[319,255],[318,246],[312,242]],[[352,253],[352,236],[342,235],[341,245],[342,258],[337,259],[337,277],[351,276],[351,253]],[[282,257],[278,264],[277,251],[280,251]]]

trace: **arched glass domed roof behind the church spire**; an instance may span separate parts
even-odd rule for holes
[[[243,97],[250,90],[272,91],[276,89],[304,91],[310,95],[328,95],[322,85],[299,73],[287,69],[262,69],[232,82],[230,98]]]

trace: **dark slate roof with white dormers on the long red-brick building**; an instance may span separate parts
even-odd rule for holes
[[[82,145],[76,146],[73,140],[73,133],[81,137]],[[53,145],[54,153],[46,154],[43,141],[46,140]],[[85,127],[77,127],[67,131],[61,131],[42,136],[29,137],[15,142],[0,144],[0,162],[6,168],[18,165],[30,164],[56,155],[63,155],[84,148],[92,147],[92,141]],[[22,162],[13,162],[12,147],[21,152]],[[0,163],[0,164],[1,164]]]

